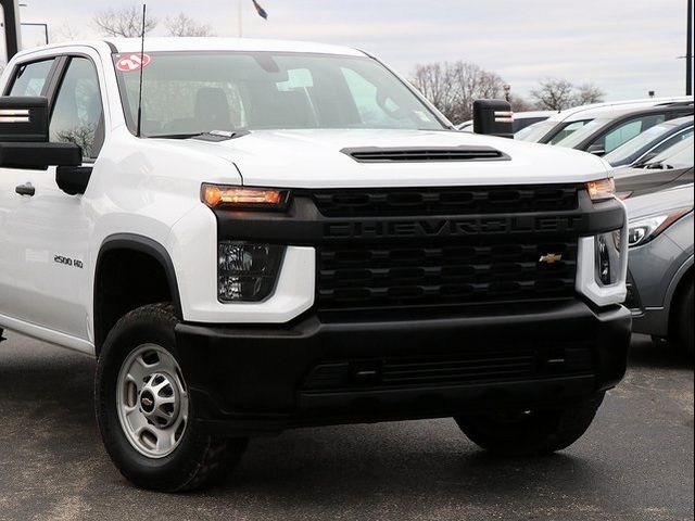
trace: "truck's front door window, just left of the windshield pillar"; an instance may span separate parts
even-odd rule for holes
[[[99,155],[104,117],[99,77],[91,60],[71,59],[53,104],[49,132],[53,142],[81,147],[86,160]]]

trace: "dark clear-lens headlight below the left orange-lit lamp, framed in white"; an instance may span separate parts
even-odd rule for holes
[[[223,241],[217,247],[220,302],[260,302],[270,296],[285,246]]]

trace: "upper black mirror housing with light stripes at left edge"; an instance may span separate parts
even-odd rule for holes
[[[48,143],[48,98],[0,97],[0,142]]]

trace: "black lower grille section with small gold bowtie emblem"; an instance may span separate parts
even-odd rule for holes
[[[548,255],[554,262],[541,262]],[[317,304],[383,309],[571,298],[576,272],[576,238],[325,244]]]

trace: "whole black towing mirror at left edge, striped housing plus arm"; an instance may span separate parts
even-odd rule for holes
[[[49,143],[48,129],[48,99],[0,97],[0,167],[46,170],[81,165],[81,149]]]

